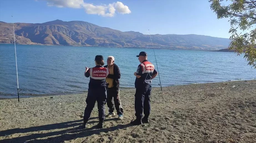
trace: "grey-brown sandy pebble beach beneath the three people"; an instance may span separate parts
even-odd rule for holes
[[[135,89],[120,91],[123,120],[97,129],[97,104],[82,129],[87,93],[0,100],[0,142],[256,142],[256,80],[153,88],[149,124],[135,119]],[[106,105],[106,114],[108,108]]]

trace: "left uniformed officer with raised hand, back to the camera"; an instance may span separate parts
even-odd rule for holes
[[[103,120],[105,119],[105,104],[107,99],[107,83],[106,77],[109,74],[107,68],[102,67],[104,65],[103,56],[95,56],[96,66],[88,69],[85,67],[85,77],[90,77],[88,94],[86,98],[86,107],[83,116],[83,128],[87,128],[87,122],[90,118],[91,112],[97,101],[99,120],[99,128],[103,128]]]

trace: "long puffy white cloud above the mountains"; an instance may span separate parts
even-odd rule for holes
[[[108,5],[93,5],[83,0],[46,0],[48,6],[69,7],[74,9],[83,8],[87,14],[97,14],[103,17],[113,17],[116,12],[120,14],[130,14],[131,10],[122,2],[114,2]]]

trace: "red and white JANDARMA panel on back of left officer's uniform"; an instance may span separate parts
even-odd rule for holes
[[[90,77],[92,79],[106,79],[109,72],[107,68],[90,68]]]

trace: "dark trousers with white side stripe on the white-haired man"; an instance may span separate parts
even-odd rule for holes
[[[114,104],[113,104],[113,98],[114,98]],[[123,108],[121,105],[121,100],[119,96],[119,89],[115,87],[108,88],[107,91],[107,105],[108,105],[108,112],[114,112],[115,108],[118,115],[123,115]]]

